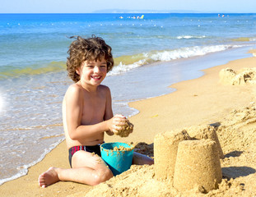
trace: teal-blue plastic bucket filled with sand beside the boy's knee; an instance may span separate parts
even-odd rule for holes
[[[114,147],[119,149],[121,146],[128,149],[114,150]],[[121,142],[100,145],[101,158],[107,163],[114,176],[127,171],[131,167],[133,162],[133,151],[134,149],[132,145]]]

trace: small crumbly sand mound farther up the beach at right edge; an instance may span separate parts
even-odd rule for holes
[[[234,71],[231,68],[222,69],[219,73],[220,82],[224,85],[256,84],[256,67]]]

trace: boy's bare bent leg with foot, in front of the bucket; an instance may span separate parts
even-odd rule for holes
[[[50,167],[47,172],[40,175],[39,184],[46,187],[57,181],[74,181],[95,186],[109,180],[112,176],[112,172],[102,158],[80,150],[72,156],[71,169]]]

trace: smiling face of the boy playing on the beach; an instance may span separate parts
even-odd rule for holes
[[[77,69],[81,83],[88,85],[100,85],[107,75],[107,62],[104,58],[99,61],[86,60]]]

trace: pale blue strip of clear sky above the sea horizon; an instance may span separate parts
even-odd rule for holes
[[[0,5],[0,13],[91,13],[109,9],[256,12],[256,0],[0,0]]]

